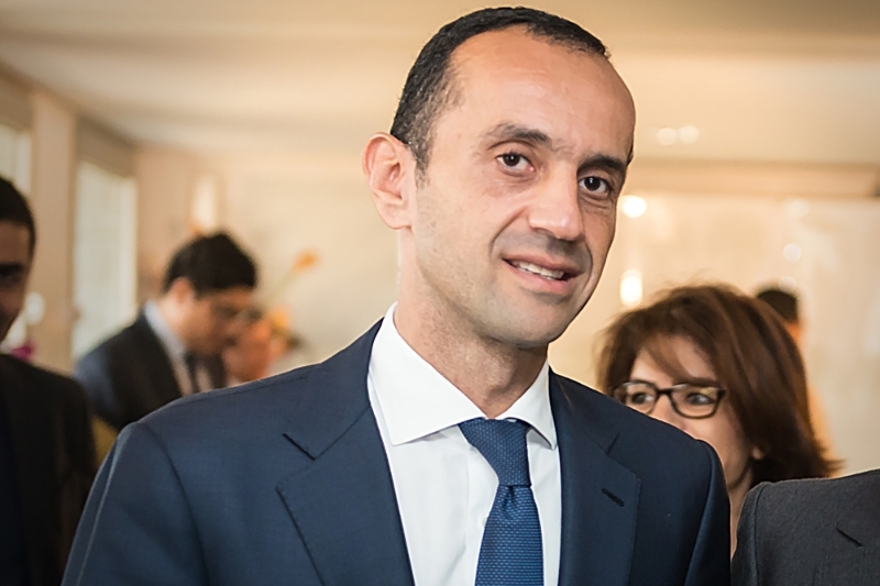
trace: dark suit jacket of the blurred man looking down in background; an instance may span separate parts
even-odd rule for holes
[[[204,364],[215,388],[224,387],[220,356],[205,358]],[[118,430],[183,396],[172,361],[143,312],[82,356],[74,376],[98,417]]]

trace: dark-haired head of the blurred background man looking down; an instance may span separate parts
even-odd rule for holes
[[[251,306],[256,265],[226,233],[197,236],[172,257],[156,303],[189,352],[218,354]]]

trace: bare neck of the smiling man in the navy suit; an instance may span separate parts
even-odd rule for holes
[[[547,346],[518,349],[480,336],[436,308],[398,303],[394,323],[406,343],[488,418],[507,411],[547,362]]]

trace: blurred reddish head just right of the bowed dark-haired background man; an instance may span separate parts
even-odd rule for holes
[[[223,349],[223,365],[231,384],[268,376],[274,356],[272,320],[257,309],[245,311],[242,325]]]

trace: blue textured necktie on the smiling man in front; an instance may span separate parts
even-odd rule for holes
[[[521,421],[471,419],[459,423],[498,476],[483,531],[475,586],[542,586],[541,522],[531,494],[529,454]]]

